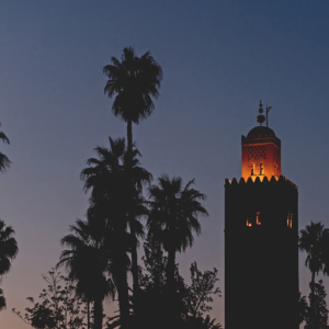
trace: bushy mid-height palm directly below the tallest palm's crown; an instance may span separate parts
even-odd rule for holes
[[[133,149],[134,194],[131,201],[133,216],[127,214],[127,152],[123,138],[110,137],[110,149],[97,147],[97,158],[87,161],[88,168],[81,171],[84,180],[84,190],[91,190],[90,209],[95,212],[97,217],[106,218],[109,229],[113,234],[113,279],[115,281],[122,325],[126,326],[129,317],[128,285],[126,253],[136,247],[138,237],[144,235],[139,218],[147,214],[145,200],[141,195],[141,186],[151,179],[151,174],[140,168],[137,156],[139,151]],[[131,190],[132,192],[132,190]],[[128,234],[128,228],[129,231]]]

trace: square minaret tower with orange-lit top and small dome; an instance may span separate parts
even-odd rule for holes
[[[259,112],[241,138],[241,179],[225,181],[225,329],[298,329],[298,190]]]

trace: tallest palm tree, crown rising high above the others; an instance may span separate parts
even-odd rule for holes
[[[128,181],[133,181],[134,173],[129,170],[133,167],[133,123],[138,124],[139,121],[148,117],[155,110],[154,99],[159,95],[162,68],[149,52],[138,57],[132,47],[123,49],[121,61],[115,57],[112,57],[111,61],[111,65],[106,65],[103,68],[103,72],[109,78],[104,93],[110,98],[115,95],[112,111],[115,116],[127,123]],[[127,205],[131,217],[133,217],[133,195],[134,192],[129,191]],[[132,229],[134,236],[134,227],[131,227]],[[132,273],[134,304],[137,306],[137,294],[139,291],[137,243],[132,248]]]

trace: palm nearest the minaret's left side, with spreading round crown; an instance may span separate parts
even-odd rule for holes
[[[158,185],[149,188],[149,238],[158,240],[168,252],[167,284],[171,298],[174,294],[175,253],[192,247],[193,232],[201,234],[198,215],[208,215],[200,202],[206,196],[192,189],[192,184],[194,180],[183,186],[181,178],[170,179],[164,174],[158,179]]]

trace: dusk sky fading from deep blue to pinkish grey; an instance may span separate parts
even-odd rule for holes
[[[0,148],[13,164],[0,178],[0,218],[20,247],[2,283],[1,329],[29,328],[11,309],[38,295],[59,239],[83,218],[86,160],[126,134],[102,73],[125,46],[150,50],[163,69],[156,111],[134,126],[143,166],[195,178],[208,196],[202,236],[178,257],[183,275],[194,260],[216,266],[224,290],[224,180],[240,177],[240,138],[260,99],[273,106],[282,173],[299,189],[299,226],[329,227],[328,15],[326,0],[1,1],[0,122],[11,145]],[[303,256],[299,268],[308,294]],[[224,321],[223,297],[212,316]]]

